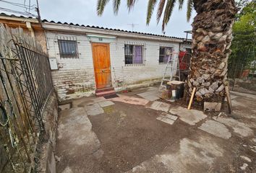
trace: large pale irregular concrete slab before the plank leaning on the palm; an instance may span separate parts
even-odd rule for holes
[[[195,125],[207,117],[200,110],[187,110],[184,107],[172,107],[169,112],[173,115],[178,115],[179,119],[184,121],[184,123],[188,123],[189,125]]]

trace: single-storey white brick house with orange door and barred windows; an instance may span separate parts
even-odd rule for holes
[[[23,27],[30,19],[7,20],[16,18]],[[179,50],[191,50],[191,40],[179,37],[47,20],[42,27],[46,38],[36,38],[46,41],[60,101],[155,84],[163,77],[169,53],[178,58]]]

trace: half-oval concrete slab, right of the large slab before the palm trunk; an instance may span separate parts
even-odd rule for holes
[[[231,137],[231,132],[229,129],[226,128],[226,126],[222,123],[215,120],[206,120],[205,123],[202,123],[199,128],[212,134],[213,136],[218,136],[220,138],[228,139]]]

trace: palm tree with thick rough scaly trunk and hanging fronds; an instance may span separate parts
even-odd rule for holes
[[[177,0],[148,0],[147,25],[158,2],[157,22],[166,27]],[[109,0],[98,0],[98,15]],[[114,13],[117,14],[121,0],[114,0]],[[128,9],[135,6],[136,0],[127,0]],[[179,0],[182,9],[184,0]],[[197,12],[192,22],[192,58],[187,79],[187,97],[196,87],[198,102],[218,102],[225,95],[227,61],[231,53],[232,25],[236,14],[234,0],[187,0],[187,20],[192,9]]]

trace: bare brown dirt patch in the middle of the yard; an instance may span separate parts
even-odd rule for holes
[[[126,172],[192,133],[179,120],[174,125],[155,120],[159,111],[115,103],[105,108],[111,113],[89,117],[104,152],[103,172]]]

